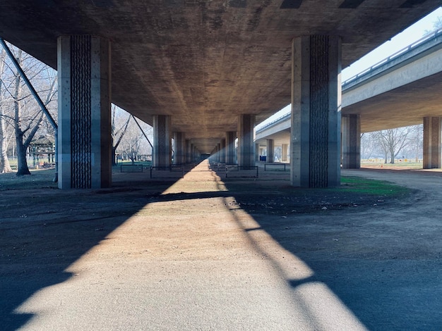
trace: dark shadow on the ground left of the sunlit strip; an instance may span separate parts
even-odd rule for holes
[[[174,182],[116,182],[102,190],[0,191],[1,330],[25,325],[32,314],[17,311],[21,304],[73,277],[65,271],[68,266]]]

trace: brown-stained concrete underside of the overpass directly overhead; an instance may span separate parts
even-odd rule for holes
[[[342,36],[342,68],[441,5],[441,0],[2,0],[0,36],[56,68],[59,35],[112,41],[112,101],[152,124],[172,115],[209,153],[290,102],[290,45]]]

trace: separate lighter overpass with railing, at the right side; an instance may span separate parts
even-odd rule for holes
[[[345,168],[359,168],[361,132],[422,123],[424,168],[441,168],[441,58],[442,30],[438,30],[343,82]],[[257,130],[256,144],[261,149],[269,143],[284,149],[290,141],[291,118],[284,115]],[[347,149],[352,149],[351,157]]]

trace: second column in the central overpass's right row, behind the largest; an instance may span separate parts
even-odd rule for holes
[[[238,165],[241,167],[255,165],[254,127],[255,115],[242,114],[238,116]]]

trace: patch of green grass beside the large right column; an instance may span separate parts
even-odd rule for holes
[[[376,196],[400,196],[411,192],[411,189],[391,182],[369,180],[362,177],[341,177],[341,187],[339,190]]]

